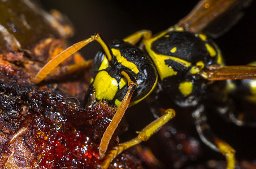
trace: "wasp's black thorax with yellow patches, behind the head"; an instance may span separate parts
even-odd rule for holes
[[[223,65],[218,47],[204,34],[170,28],[143,43],[157,68],[163,90],[182,106],[196,105],[200,100],[208,82],[202,81],[199,73],[209,63]]]

